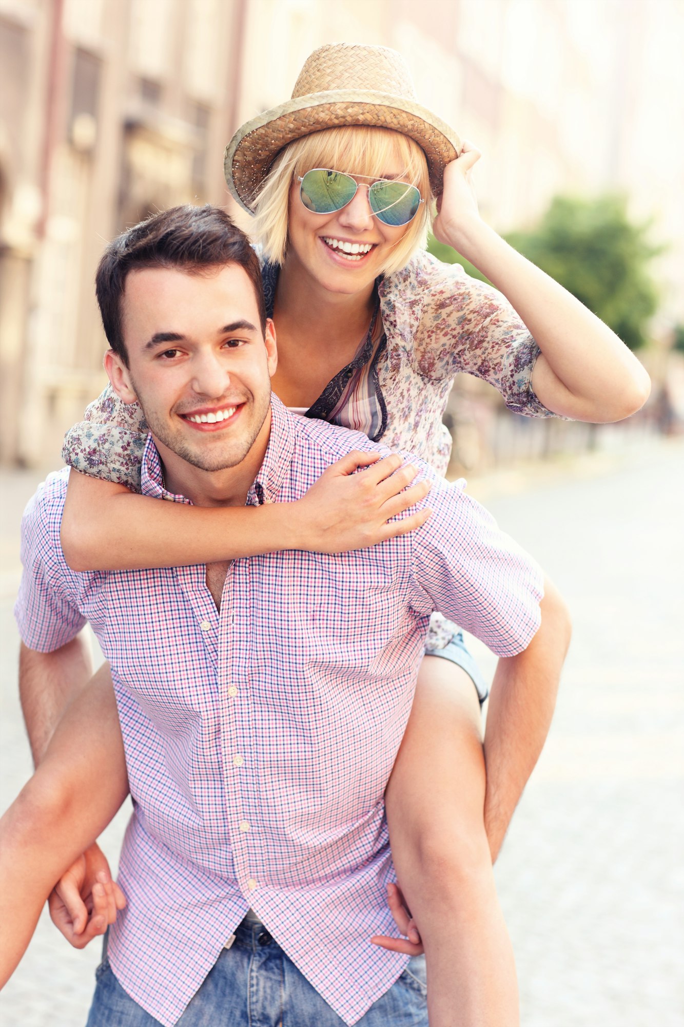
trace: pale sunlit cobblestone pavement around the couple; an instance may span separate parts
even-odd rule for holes
[[[488,505],[544,565],[574,621],[552,733],[497,865],[524,1027],[684,1024],[683,455],[679,443],[653,444],[629,462],[599,454],[578,481],[556,473],[518,494],[489,490]],[[27,477],[9,482],[6,518],[32,488]],[[3,807],[30,771],[15,699],[12,531],[2,534]],[[124,824],[119,815],[107,832],[112,857]],[[2,994],[3,1027],[84,1023],[91,949],[71,950],[43,919]]]

